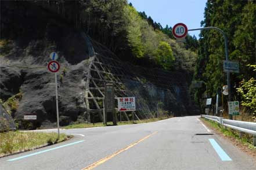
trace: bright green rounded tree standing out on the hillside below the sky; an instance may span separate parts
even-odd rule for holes
[[[157,63],[163,65],[164,69],[171,69],[175,60],[174,54],[172,54],[171,46],[167,42],[159,43],[155,57]]]

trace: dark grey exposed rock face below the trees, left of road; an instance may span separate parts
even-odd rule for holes
[[[14,29],[12,32],[19,29],[12,27],[12,23],[16,21],[13,21],[8,11],[14,9],[12,6],[8,8],[6,7],[2,12],[5,14],[2,19],[3,33],[5,39],[12,40],[7,43],[8,48],[1,47],[8,50],[5,50],[5,53],[1,54],[3,57],[0,58],[0,98],[6,101],[9,97],[22,93],[14,118],[21,121],[25,114],[37,115],[37,120],[31,121],[32,125],[29,127],[21,121],[20,128],[56,125],[55,75],[46,68],[47,62],[51,60],[49,54],[52,51],[58,53],[60,62],[60,71],[57,72],[60,125],[67,125],[73,121],[91,121],[88,119],[91,113],[88,113],[89,108],[86,108],[88,104],[85,103],[84,95],[86,87],[90,87],[89,84],[86,86],[88,67],[92,62],[89,56],[94,53],[92,47],[88,45],[88,40],[67,24],[53,20],[45,11],[31,14],[19,12],[20,20],[26,21],[25,23],[35,23],[33,29],[36,31],[33,32],[29,24],[20,23],[20,27],[24,27],[23,34],[17,36],[8,34],[6,33],[8,28]],[[31,11],[34,10],[37,9]],[[95,44],[93,47],[99,55],[105,58],[113,57],[111,52],[106,53],[107,49],[104,47]],[[188,86],[182,73],[163,72],[158,69],[149,71],[148,68],[118,62],[119,67],[129,69],[127,71],[129,78],[121,78],[118,84],[122,83],[125,86],[127,94],[136,95],[138,109],[144,114],[142,118],[151,117],[150,112],[156,111],[156,104],[160,101],[164,103],[165,110],[173,112],[176,116],[189,114],[191,104]],[[104,64],[110,65],[107,60]],[[110,74],[114,74],[114,67]],[[95,72],[95,75],[98,74]],[[168,77],[170,75],[178,76]],[[104,78],[106,75],[102,76]],[[142,79],[146,82],[141,81]],[[121,96],[118,94],[118,97]]]

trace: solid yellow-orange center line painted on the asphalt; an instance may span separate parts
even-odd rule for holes
[[[130,149],[131,147],[134,147],[134,146],[137,145],[139,142],[144,141],[145,139],[149,138],[150,136],[152,136],[152,135],[154,135],[154,134],[156,134],[156,133],[157,133],[157,132],[153,132],[152,134],[149,134],[149,135],[145,136],[144,138],[139,139],[139,141],[136,141],[136,142],[134,142],[134,143],[131,143],[131,144],[128,145],[127,147],[124,147],[124,148],[122,148],[122,149],[120,149],[120,150],[114,152],[113,154],[110,154],[109,156],[106,156],[106,157],[102,158],[101,160],[94,162],[93,164],[89,165],[88,167],[86,167],[86,168],[84,168],[84,169],[82,169],[82,170],[90,170],[90,169],[96,168],[96,167],[98,167],[100,164],[103,164],[104,162],[106,162],[106,161],[110,160],[111,158],[117,156],[118,154],[122,153],[123,151],[128,150],[128,149]]]

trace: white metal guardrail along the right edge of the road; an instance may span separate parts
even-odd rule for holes
[[[223,119],[223,117],[210,116],[205,114],[201,114],[201,117],[204,117],[205,119],[209,119],[212,121],[216,121],[217,123],[225,127],[229,127],[234,130],[253,135],[253,145],[256,146],[256,123],[248,121]]]

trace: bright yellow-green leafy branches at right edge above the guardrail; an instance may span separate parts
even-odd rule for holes
[[[256,70],[256,65],[251,67]],[[256,121],[256,79],[253,77],[247,81],[243,79],[236,90],[242,99],[241,105],[251,110],[253,119]]]

